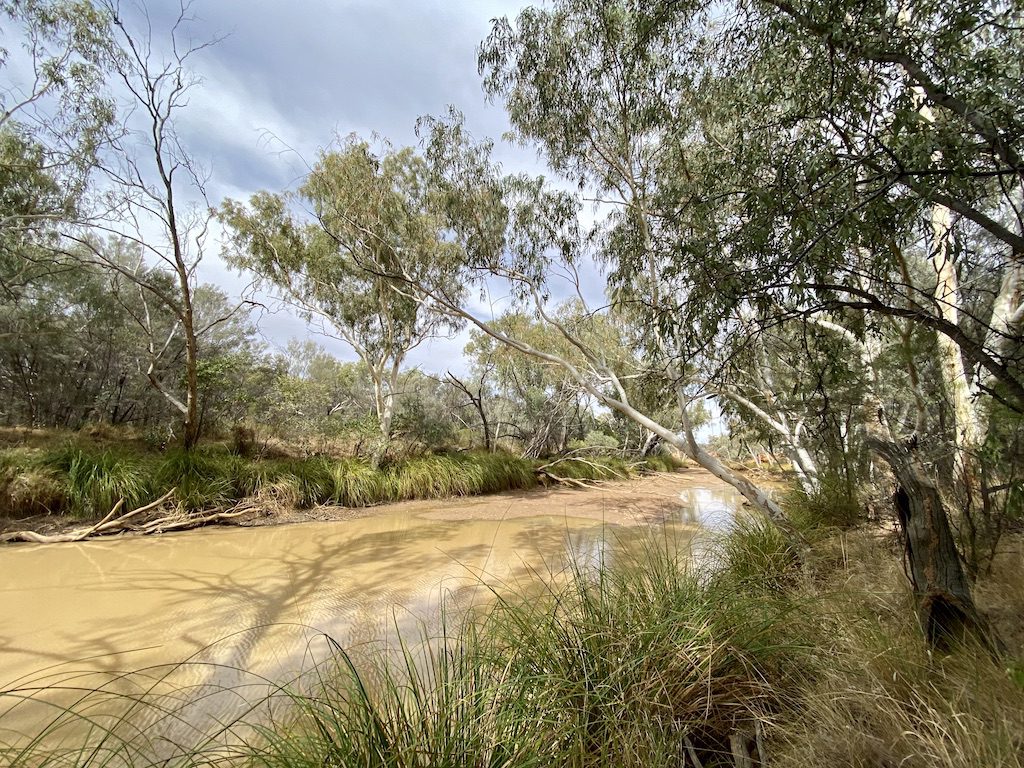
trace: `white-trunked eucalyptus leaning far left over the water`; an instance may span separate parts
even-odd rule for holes
[[[359,267],[386,276],[391,290],[420,304],[466,322],[493,339],[564,372],[566,377],[593,397],[600,407],[617,412],[676,445],[713,474],[734,485],[752,504],[784,523],[784,516],[769,495],[745,477],[733,472],[699,445],[693,433],[684,386],[675,375],[678,361],[653,364],[632,349],[607,354],[601,329],[610,306],[592,309],[583,302],[575,264],[584,239],[578,224],[579,202],[568,193],[552,188],[543,178],[508,176],[492,158],[488,141],[475,141],[457,113],[446,120],[421,122],[428,174],[425,188],[438,211],[446,233],[446,260],[436,273],[418,269],[412,251],[390,249],[361,251]],[[273,231],[274,226],[261,231]],[[584,322],[566,322],[550,301],[549,280],[555,271],[568,276],[583,302]],[[549,331],[536,345],[505,333],[494,317],[465,306],[467,286],[486,293],[497,282],[515,302],[529,307]],[[594,323],[592,321],[599,322]],[[565,354],[563,349],[569,349]],[[680,406],[682,433],[638,411],[630,401],[625,383],[643,372],[662,376],[672,385]]]

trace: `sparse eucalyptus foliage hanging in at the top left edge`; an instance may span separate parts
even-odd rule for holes
[[[101,9],[7,0],[0,19],[16,44],[0,49],[0,287],[10,293],[38,261],[24,246],[74,216],[115,111],[103,87],[111,27]]]

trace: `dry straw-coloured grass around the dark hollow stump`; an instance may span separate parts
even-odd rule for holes
[[[771,764],[1024,766],[1024,681],[1015,674],[1024,629],[1021,546],[1016,542],[996,575],[977,589],[980,606],[1011,641],[1008,654],[993,658],[980,647],[944,656],[927,650],[885,537],[860,530],[818,543],[816,553],[828,554],[803,590],[818,613],[821,663],[769,730]]]

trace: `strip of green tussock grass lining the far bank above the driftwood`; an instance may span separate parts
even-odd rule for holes
[[[177,504],[189,511],[226,507],[249,497],[300,509],[317,504],[367,507],[530,488],[538,484],[542,464],[507,453],[461,452],[373,467],[358,458],[245,458],[220,445],[145,454],[73,441],[0,450],[0,515],[95,518],[120,499],[126,510],[134,509],[171,487]],[[558,471],[573,479],[604,480],[675,466],[662,457],[641,464],[600,457],[562,461]]]

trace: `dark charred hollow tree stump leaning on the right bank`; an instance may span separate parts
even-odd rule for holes
[[[874,437],[868,444],[896,477],[896,514],[903,531],[918,615],[929,644],[948,648],[969,637],[987,642],[942,497],[914,459],[913,445]]]

